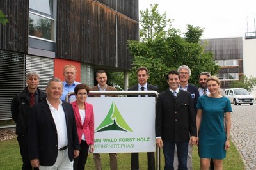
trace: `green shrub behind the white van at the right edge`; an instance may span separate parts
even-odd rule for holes
[[[243,75],[239,81],[232,81],[230,83],[230,88],[244,88],[248,91],[252,91],[255,86],[256,78],[252,77],[252,75],[250,77]]]

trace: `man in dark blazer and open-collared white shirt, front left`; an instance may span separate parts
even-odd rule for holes
[[[72,105],[60,100],[63,83],[52,78],[46,87],[47,98],[31,107],[28,127],[29,159],[33,167],[73,169],[79,155],[79,140]]]

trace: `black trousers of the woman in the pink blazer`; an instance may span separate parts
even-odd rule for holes
[[[81,141],[80,143],[80,153],[77,158],[74,159],[74,170],[84,170],[84,166],[87,161],[89,151],[89,145],[87,145],[86,141]]]

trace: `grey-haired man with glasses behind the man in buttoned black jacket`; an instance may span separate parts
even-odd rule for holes
[[[188,80],[191,76],[191,70],[188,66],[182,65],[178,68],[177,70],[180,75],[180,84],[179,84],[179,89],[188,91],[191,93],[191,97],[193,100],[193,107],[196,115],[196,104],[197,100],[199,97],[199,91],[196,86],[193,84],[189,84]],[[188,160],[187,160],[187,166],[189,170],[192,170],[192,152],[193,152],[193,147],[189,144],[188,146]],[[174,169],[178,169],[178,158],[177,158],[177,148],[175,148],[175,155],[174,155]]]

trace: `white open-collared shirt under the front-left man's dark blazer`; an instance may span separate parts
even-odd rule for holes
[[[62,107],[62,101],[60,100],[60,103],[58,105],[58,110],[57,110],[54,107],[52,107],[52,105],[49,103],[47,98],[46,100],[51,110],[52,117],[56,126],[57,137],[58,137],[58,148],[63,148],[64,146],[68,145],[68,134],[67,134],[65,112]]]

